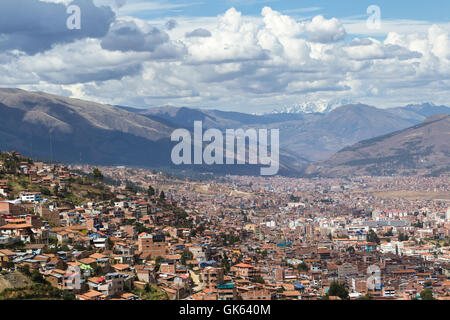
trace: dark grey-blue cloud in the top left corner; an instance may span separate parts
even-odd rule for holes
[[[101,38],[115,19],[111,8],[97,7],[92,0],[74,0],[71,4],[81,10],[81,29],[67,28],[70,14],[63,3],[0,1],[0,51],[20,50],[36,54],[56,44]]]

